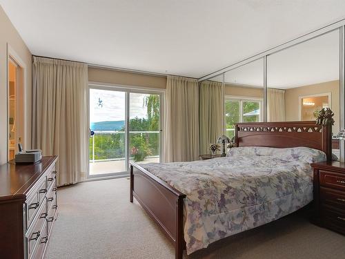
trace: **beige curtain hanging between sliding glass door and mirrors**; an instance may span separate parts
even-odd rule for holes
[[[168,76],[164,108],[164,162],[199,157],[197,79]]]

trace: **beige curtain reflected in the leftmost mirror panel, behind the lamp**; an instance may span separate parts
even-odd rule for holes
[[[224,132],[224,93],[217,81],[201,81],[199,86],[200,154],[210,153],[208,146],[216,143]]]

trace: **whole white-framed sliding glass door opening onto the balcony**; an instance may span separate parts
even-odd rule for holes
[[[90,86],[89,178],[128,174],[128,162],[159,162],[161,93]]]

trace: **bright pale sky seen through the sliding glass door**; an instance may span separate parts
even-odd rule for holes
[[[90,122],[125,120],[125,95],[124,92],[90,89]],[[145,94],[130,93],[130,118],[147,117],[144,97]],[[103,106],[99,105],[99,98]]]

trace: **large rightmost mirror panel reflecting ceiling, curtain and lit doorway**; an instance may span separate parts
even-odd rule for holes
[[[268,56],[267,120],[315,120],[322,108],[335,113],[339,132],[339,30]],[[333,138],[339,157],[339,140]]]

